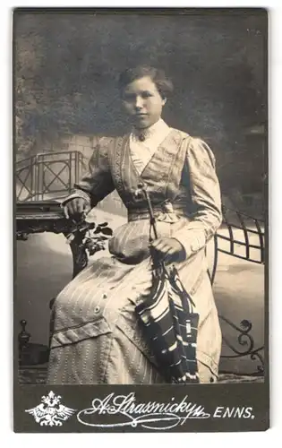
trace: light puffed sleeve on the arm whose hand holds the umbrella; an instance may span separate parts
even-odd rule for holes
[[[186,153],[192,220],[175,232],[186,256],[199,251],[219,228],[222,220],[221,197],[216,163],[208,144],[192,138]]]

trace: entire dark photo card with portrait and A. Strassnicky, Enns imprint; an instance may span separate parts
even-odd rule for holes
[[[267,48],[263,9],[14,10],[15,432],[269,428]]]

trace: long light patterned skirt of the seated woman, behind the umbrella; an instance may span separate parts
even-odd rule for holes
[[[215,383],[221,332],[204,249],[175,267],[200,314],[200,382]],[[150,293],[151,273],[150,258],[129,265],[105,256],[62,290],[52,311],[47,383],[166,383],[135,313]]]

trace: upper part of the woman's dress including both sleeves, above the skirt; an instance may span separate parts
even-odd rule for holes
[[[169,228],[169,237],[181,242],[186,256],[204,247],[221,223],[215,158],[205,142],[181,131],[171,129],[141,174],[131,158],[128,134],[103,137],[93,149],[88,170],[66,201],[83,197],[90,207],[95,207],[116,189],[130,223],[141,220],[145,226],[149,221],[148,203],[144,195],[136,195],[141,182],[150,194],[158,222]],[[121,232],[126,236],[126,241],[121,238],[124,251],[129,228]],[[130,235],[141,233],[148,236],[147,229],[141,232],[133,226]]]

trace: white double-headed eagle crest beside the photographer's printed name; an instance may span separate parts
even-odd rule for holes
[[[61,404],[61,398],[61,395],[51,391],[47,397],[45,395],[41,397],[38,406],[26,409],[25,412],[31,414],[41,426],[62,426],[65,420],[73,416],[76,409]]]

